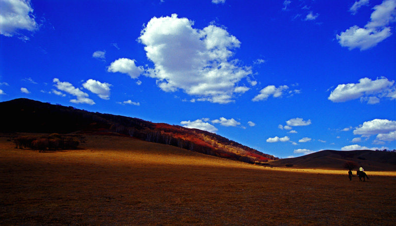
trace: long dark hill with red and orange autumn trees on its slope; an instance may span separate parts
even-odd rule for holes
[[[217,134],[178,125],[93,113],[25,98],[1,102],[0,109],[0,132],[120,134],[245,162],[277,159]]]

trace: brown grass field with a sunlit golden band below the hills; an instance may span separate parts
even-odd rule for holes
[[[137,139],[79,150],[0,137],[1,226],[394,226],[396,172],[275,169]]]

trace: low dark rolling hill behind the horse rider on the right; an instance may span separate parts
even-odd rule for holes
[[[286,164],[293,164],[294,168],[342,170],[346,161],[362,165],[365,171],[396,171],[396,152],[371,150],[324,150],[296,158],[278,159],[271,165],[285,167]]]

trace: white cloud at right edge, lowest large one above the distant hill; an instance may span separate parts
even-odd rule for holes
[[[370,136],[375,134],[387,134],[396,131],[396,121],[388,119],[374,119],[363,122],[363,125],[353,130],[354,135]]]

